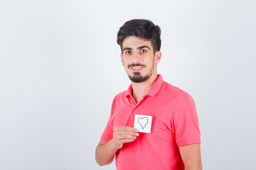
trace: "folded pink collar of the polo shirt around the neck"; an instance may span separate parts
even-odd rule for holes
[[[155,83],[150,87],[148,93],[146,93],[145,96],[152,96],[152,97],[154,97],[158,93],[159,89],[161,88],[161,86],[162,86],[162,84],[164,82],[164,79],[163,79],[162,75],[158,74],[158,76],[159,77],[157,78]],[[126,98],[129,97],[129,96],[132,97],[132,84],[130,84],[130,86],[128,87],[128,89],[126,91]]]

